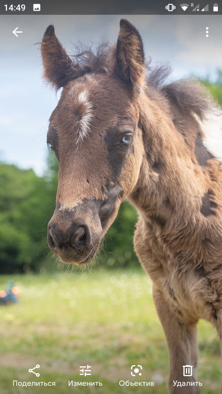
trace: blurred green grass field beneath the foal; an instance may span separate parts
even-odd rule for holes
[[[0,289],[8,276],[0,276]],[[18,304],[0,307],[0,394],[166,394],[168,352],[154,309],[151,282],[142,269],[100,270],[13,277]],[[220,344],[210,324],[199,324],[201,393],[220,392]],[[40,377],[28,372],[40,364]],[[80,365],[92,375],[79,376]],[[133,380],[153,388],[120,387]],[[138,379],[135,378],[137,381]],[[12,381],[56,381],[56,388],[13,387]],[[100,381],[103,387],[68,387],[68,381]],[[183,392],[183,391],[182,391]]]

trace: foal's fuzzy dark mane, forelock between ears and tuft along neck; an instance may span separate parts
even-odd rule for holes
[[[80,75],[111,74],[115,59],[116,46],[111,46],[108,41],[102,41],[96,47],[84,46],[79,43],[76,47],[77,54],[72,58],[79,66]],[[203,120],[207,114],[215,109],[207,89],[195,79],[180,79],[168,83],[168,78],[172,72],[169,64],[161,66],[150,66],[151,59],[147,62],[147,87],[153,93],[161,95],[169,104],[176,105],[182,113],[196,114]]]

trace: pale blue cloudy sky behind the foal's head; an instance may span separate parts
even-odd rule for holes
[[[78,41],[116,42],[121,18],[138,28],[152,64],[171,64],[172,79],[215,79],[222,65],[220,15],[1,15],[0,161],[33,168],[38,175],[46,168],[48,119],[60,96],[42,79],[39,42],[47,26],[54,25],[72,54]],[[18,37],[12,34],[16,27],[23,32]],[[222,129],[208,129],[206,145],[222,157]]]

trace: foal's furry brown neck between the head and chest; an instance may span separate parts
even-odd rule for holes
[[[222,193],[214,181],[217,178],[222,184],[222,172],[218,160],[207,151],[204,165],[200,164],[197,147],[205,147],[193,114],[183,113],[164,99],[158,104],[144,92],[139,107],[145,155],[129,199],[145,219],[160,226],[172,225],[172,221],[179,227],[196,226],[197,221],[216,215]]]

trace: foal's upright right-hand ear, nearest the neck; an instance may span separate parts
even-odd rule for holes
[[[126,19],[120,21],[114,72],[140,90],[145,74],[144,46],[140,33]]]

